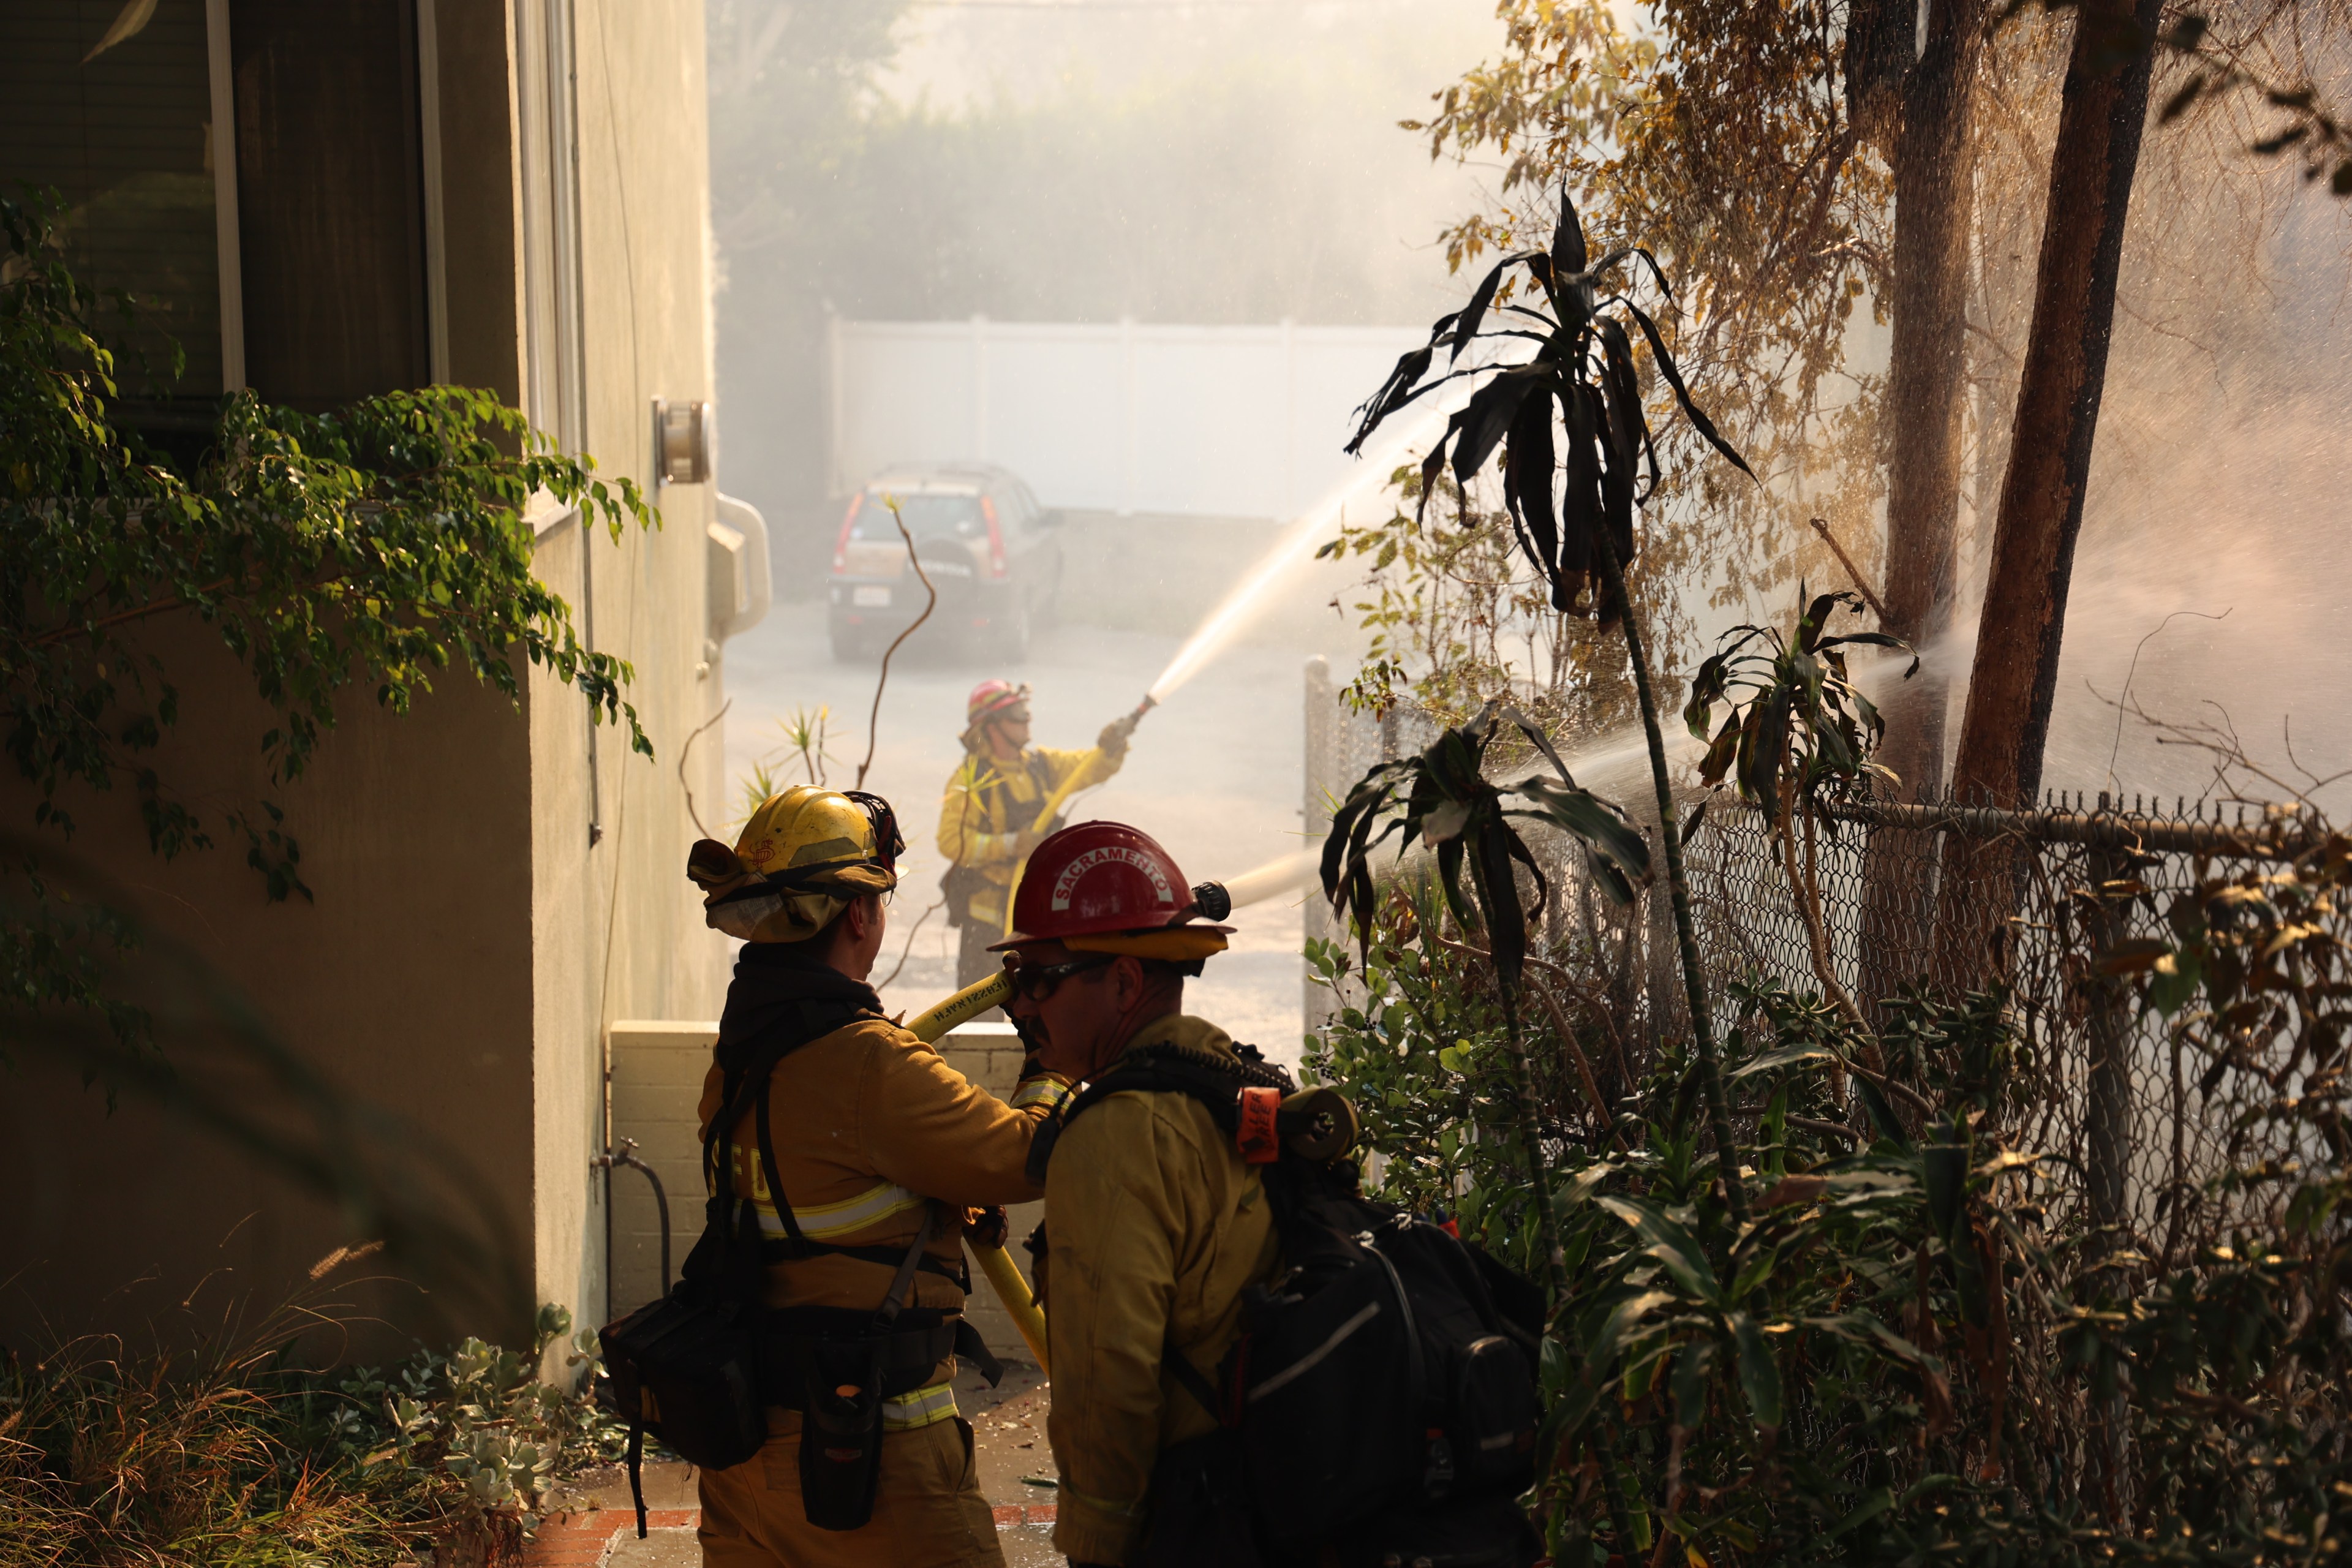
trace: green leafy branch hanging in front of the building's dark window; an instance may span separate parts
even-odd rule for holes
[[[238,393],[181,473],[115,425],[115,357],[49,247],[45,205],[0,197],[0,722],[35,823],[71,835],[75,788],[127,785],[155,853],[214,842],[155,757],[181,717],[172,663],[139,637],[162,616],[212,625],[252,677],[273,792],[308,766],[348,686],[407,712],[456,668],[515,698],[517,651],[652,757],[621,696],[630,665],[583,646],[532,576],[527,520],[546,496],[614,541],[626,522],[659,527],[630,480],[595,477],[496,395],[442,386],[334,414]],[[270,898],[308,896],[280,802],[223,820]]]

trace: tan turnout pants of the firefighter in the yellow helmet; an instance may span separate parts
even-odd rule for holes
[[[769,1410],[767,1448],[701,1472],[706,1568],[1004,1568],[962,1418],[889,1432],[875,1516],[818,1530],[800,1512],[800,1410]]]

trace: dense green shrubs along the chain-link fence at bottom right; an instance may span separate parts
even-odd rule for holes
[[[2187,1084],[2274,1088],[2230,1168],[2159,1213],[2225,1237],[2199,1246],[2119,1251],[2072,1201],[2074,1152],[2020,1145],[2046,1072],[1997,994],[1898,997],[1865,1034],[1731,987],[1722,1074],[1755,1194],[1736,1220],[1684,1041],[1661,1041],[1611,1143],[1571,1114],[1557,1018],[1529,1030],[1552,1086],[1529,1173],[1496,980],[1435,896],[1390,889],[1359,966],[1317,947],[1348,990],[1308,1065],[1362,1107],[1376,1187],[1526,1272],[1550,1192],[1566,1288],[1526,1502],[1555,1561],[2352,1556],[2352,839],[2307,844],[2286,872],[2209,877],[2166,910],[2169,943],[2082,954],[2145,978]]]

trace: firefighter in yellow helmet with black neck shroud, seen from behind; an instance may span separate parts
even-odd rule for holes
[[[755,1206],[767,1309],[769,1439],[701,1472],[710,1568],[1004,1561],[950,1387],[957,1354],[993,1366],[962,1319],[962,1229],[1040,1197],[1030,1140],[1070,1091],[1025,1072],[1007,1105],[882,1016],[866,980],[901,849],[880,797],[793,788],[687,863],[708,924],[746,940],[699,1119]]]

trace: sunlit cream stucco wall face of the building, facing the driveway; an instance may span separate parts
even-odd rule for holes
[[[597,731],[593,849],[581,710],[546,691],[550,682],[534,691],[534,795],[548,837],[536,1269],[543,1298],[602,1321],[607,1180],[588,1168],[604,1147],[602,1039],[614,1018],[717,1016],[727,943],[703,926],[684,875],[699,837],[684,797],[694,792],[713,830],[729,806],[715,731],[694,738],[724,701],[706,604],[715,487],[652,487],[652,400],[713,395],[703,14],[699,0],[579,0],[574,16],[588,449],[604,473],[644,484],[663,515],[659,534],[633,531],[619,548],[588,541],[597,646],[628,649],[630,701],[654,743],[647,762],[628,752],[626,731]],[[579,529],[560,538],[543,571],[579,597]]]

